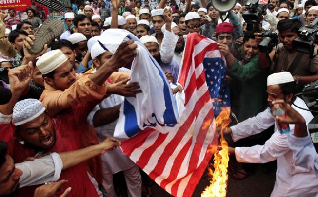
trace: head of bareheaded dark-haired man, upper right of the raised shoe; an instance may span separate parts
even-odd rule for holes
[[[74,18],[74,26],[76,31],[86,36],[87,39],[92,37],[92,22],[90,18],[85,15],[78,15]]]

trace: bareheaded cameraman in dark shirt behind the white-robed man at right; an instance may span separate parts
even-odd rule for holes
[[[269,56],[274,60],[273,72],[288,71],[292,73],[298,91],[301,86],[318,79],[318,56],[310,59],[309,54],[300,53],[293,49],[293,40],[297,38],[301,27],[297,19],[280,20],[277,24],[281,44],[278,53],[273,50]]]

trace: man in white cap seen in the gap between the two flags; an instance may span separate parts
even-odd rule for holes
[[[161,61],[161,55],[159,50],[158,40],[154,36],[142,36],[140,41],[147,47],[150,54],[156,59],[156,61],[161,66],[164,72],[170,72],[174,78],[174,81],[177,81],[179,74],[178,64],[172,60],[170,63],[163,63]]]

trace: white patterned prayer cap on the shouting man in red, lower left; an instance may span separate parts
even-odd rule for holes
[[[13,107],[12,119],[16,126],[23,125],[38,118],[45,108],[37,99],[24,99]]]

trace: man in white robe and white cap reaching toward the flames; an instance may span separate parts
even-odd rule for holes
[[[302,99],[294,97],[294,90],[295,82],[291,73],[279,72],[269,75],[267,78],[267,101],[270,107],[246,121],[224,129],[223,132],[231,134],[232,139],[237,141],[261,133],[275,125],[275,133],[263,145],[229,147],[229,153],[235,155],[239,162],[267,163],[277,160],[276,181],[271,197],[314,197],[318,193],[318,178],[315,172],[295,164],[295,158],[299,155],[293,154],[289,148],[287,140],[289,134],[281,133],[278,125],[279,118],[274,118],[271,112],[276,100],[283,100],[291,106],[294,103],[295,105],[292,107],[301,114],[305,120],[304,125],[308,125],[313,119],[313,115],[308,111],[308,107]],[[289,124],[288,126],[290,135],[293,135],[297,130],[296,125]],[[312,148],[311,153],[314,151]]]

